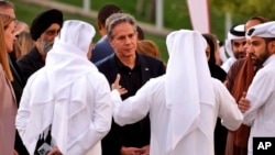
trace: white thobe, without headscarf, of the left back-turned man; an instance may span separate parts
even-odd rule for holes
[[[67,75],[68,76],[68,75]],[[41,122],[30,121],[31,117],[35,117],[30,108],[30,101],[32,99],[33,86],[47,84],[45,68],[42,68],[35,73],[28,81],[24,88],[23,96],[20,102],[20,109],[16,115],[16,129],[26,146],[29,153],[33,154],[36,143],[29,143],[26,137],[26,125],[41,124]],[[80,77],[78,80],[73,82],[68,87],[70,92],[70,99],[67,102],[69,104],[69,110],[81,109],[79,113],[74,113],[75,117],[68,122],[68,137],[67,137],[67,154],[66,155],[100,155],[101,144],[100,140],[108,133],[111,124],[112,117],[112,104],[110,87],[103,75],[99,73],[87,74]],[[51,95],[45,91],[41,92],[41,96]],[[58,96],[58,95],[56,95]],[[54,98],[45,102],[52,103]],[[80,108],[79,104],[85,104],[86,107]],[[46,109],[45,109],[46,111]],[[50,112],[48,112],[50,113]],[[40,113],[43,117],[52,117],[47,113]],[[42,121],[42,120],[41,120]],[[62,124],[62,123],[61,123]],[[61,126],[61,133],[63,128]],[[55,139],[55,137],[53,137]],[[33,142],[37,142],[38,137]]]

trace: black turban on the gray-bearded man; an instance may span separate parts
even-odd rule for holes
[[[63,24],[63,13],[59,10],[51,9],[38,14],[32,22],[31,36],[34,41],[41,36],[41,34],[47,30],[53,23]]]

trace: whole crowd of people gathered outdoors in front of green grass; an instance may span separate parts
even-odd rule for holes
[[[215,34],[170,32],[167,63],[145,36],[114,4],[29,26],[0,1],[0,154],[252,155],[275,135],[274,21],[233,25],[222,63]]]

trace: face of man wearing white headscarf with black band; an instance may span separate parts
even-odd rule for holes
[[[235,58],[243,58],[246,56],[246,52],[244,45],[246,43],[245,38],[232,40],[232,51],[234,53]]]

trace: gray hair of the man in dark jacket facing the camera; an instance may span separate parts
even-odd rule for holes
[[[130,23],[136,32],[136,21],[134,16],[127,13],[113,13],[111,16],[109,16],[106,21],[106,30],[108,37],[113,38],[113,27],[120,23],[125,22]]]

